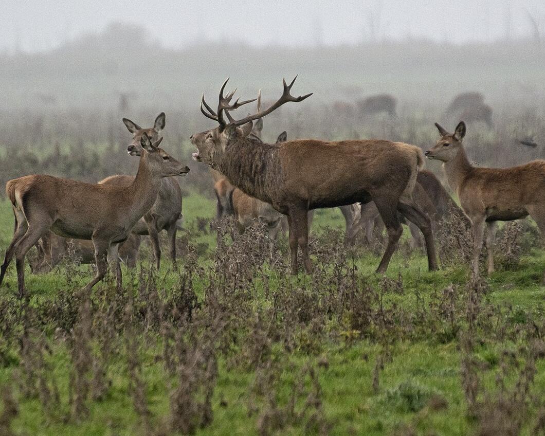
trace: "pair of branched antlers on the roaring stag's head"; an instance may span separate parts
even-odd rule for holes
[[[250,114],[247,117],[243,119],[236,120],[234,119],[231,114],[229,114],[229,111],[234,111],[235,109],[239,108],[242,105],[245,105],[247,103],[251,103],[252,101],[256,101],[256,99],[252,100],[244,100],[240,101],[240,99],[235,100],[235,102],[231,105],[231,100],[233,98],[234,93],[237,91],[235,89],[234,91],[227,94],[227,96],[223,96],[223,91],[225,90],[225,86],[227,82],[229,81],[229,78],[225,82],[223,82],[223,85],[220,89],[220,96],[219,96],[219,103],[217,105],[217,113],[212,110],[212,108],[207,104],[206,101],[204,101],[204,94],[201,100],[201,112],[204,114],[205,117],[213,119],[217,121],[220,124],[220,131],[226,128],[227,123],[225,122],[225,119],[223,119],[223,111],[225,111],[227,118],[229,119],[229,123],[234,124],[236,126],[240,126],[246,123],[249,123],[250,121],[263,118],[265,115],[268,115],[272,111],[276,110],[278,107],[282,106],[284,103],[287,103],[288,101],[293,102],[299,102],[303,101],[306,98],[310,97],[312,93],[306,94],[306,95],[299,95],[298,97],[294,97],[292,94],[290,94],[290,90],[292,89],[293,84],[295,83],[295,79],[297,76],[295,76],[292,80],[292,82],[288,85],[286,84],[286,79],[282,79],[282,83],[284,86],[284,90],[282,92],[282,95],[280,99],[278,99],[275,104],[271,105],[267,108],[267,110],[261,112],[261,92],[258,94],[258,103],[257,103],[257,113]],[[207,109],[208,113],[204,110],[203,106]]]

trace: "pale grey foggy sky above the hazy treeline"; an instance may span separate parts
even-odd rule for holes
[[[202,41],[311,46],[426,38],[440,42],[545,34],[543,0],[0,0],[0,50],[49,50],[112,22],[143,25],[179,48]]]

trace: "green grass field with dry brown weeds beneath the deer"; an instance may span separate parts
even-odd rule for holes
[[[19,300],[10,267],[0,435],[544,434],[537,243],[513,258],[500,244],[498,271],[474,282],[456,247],[428,272],[404,241],[384,278],[376,253],[345,249],[341,214],[320,210],[314,272],[292,276],[286,241],[220,226],[216,248],[214,203],[192,194],[183,212],[180,272],[150,271],[144,247],[122,294],[109,277],[82,295],[91,267],[68,259],[27,270]]]

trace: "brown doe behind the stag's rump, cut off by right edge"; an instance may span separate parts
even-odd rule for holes
[[[488,274],[494,271],[494,238],[497,221],[512,221],[530,215],[545,234],[545,160],[511,168],[482,168],[470,164],[462,144],[465,123],[453,134],[435,123],[440,139],[426,152],[443,162],[446,179],[471,220],[474,235],[473,274],[479,275],[479,255],[485,223],[488,226]]]

